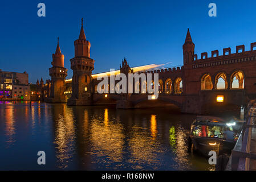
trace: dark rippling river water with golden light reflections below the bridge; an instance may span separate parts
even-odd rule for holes
[[[188,149],[196,115],[168,108],[1,101],[0,169],[213,170]]]

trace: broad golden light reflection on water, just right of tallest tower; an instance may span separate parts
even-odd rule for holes
[[[104,118],[92,119],[90,136],[92,154],[98,158],[95,163],[109,168],[113,162],[122,161],[125,138],[123,125],[109,120],[108,109],[104,110]]]

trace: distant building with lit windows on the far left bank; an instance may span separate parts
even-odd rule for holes
[[[0,98],[30,100],[29,74],[0,69]]]

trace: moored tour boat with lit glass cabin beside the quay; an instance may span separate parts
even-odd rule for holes
[[[235,119],[197,116],[189,134],[192,149],[204,155],[208,155],[209,151],[229,153],[241,133],[242,123]]]

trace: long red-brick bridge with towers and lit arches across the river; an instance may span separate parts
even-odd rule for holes
[[[97,93],[97,84],[101,81],[97,80],[97,76],[110,78],[110,74],[92,75],[94,60],[90,58],[91,43],[84,34],[83,21],[74,46],[75,57],[70,60],[73,76],[66,80],[67,69],[64,68],[64,55],[58,41],[49,69],[51,80],[46,80],[46,84],[43,84],[42,79],[40,83],[36,82],[40,100],[67,102],[67,105],[115,104],[117,109],[174,106],[182,113],[206,114],[211,110],[240,110],[256,98],[256,43],[251,43],[250,51],[245,51],[242,45],[236,47],[235,53],[231,53],[230,48],[224,48],[223,55],[219,55],[218,50],[212,51],[211,56],[203,52],[201,59],[198,59],[188,30],[182,47],[182,67],[152,69],[149,65],[130,68],[124,59],[120,71],[115,74],[124,73],[127,78],[128,73],[145,73],[146,76],[152,73],[152,78],[154,74],[159,74],[159,97],[156,100],[148,100],[147,92],[141,93],[141,79],[140,93]],[[225,83],[225,86],[221,87],[220,82]],[[151,86],[155,86],[153,79]]]

